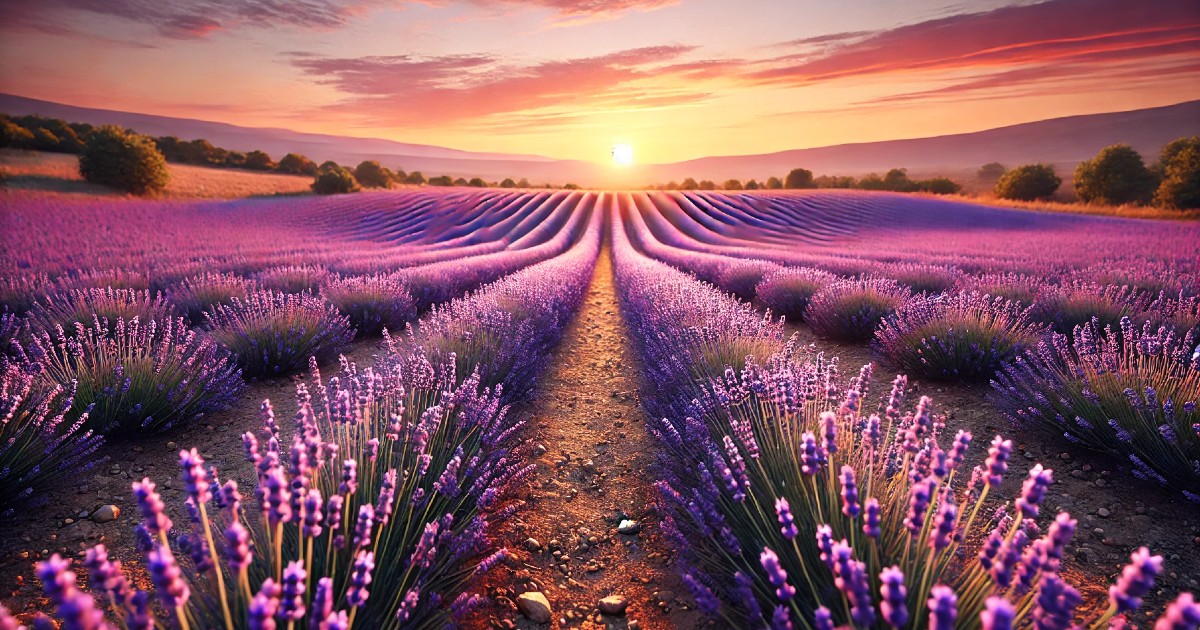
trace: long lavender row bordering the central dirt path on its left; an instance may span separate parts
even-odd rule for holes
[[[325,379],[313,362],[290,449],[264,401],[263,428],[244,436],[254,505],[196,450],[180,452],[188,523],[136,482],[155,593],[97,546],[84,563],[97,600],[54,556],[38,576],[59,614],[72,628],[107,628],[104,608],[127,628],[156,614],[181,628],[460,624],[485,602],[466,584],[506,556],[488,523],[509,517],[508,491],[530,470],[509,404],[577,310],[600,228],[596,214],[566,253],[436,310],[373,368],[343,359]]]

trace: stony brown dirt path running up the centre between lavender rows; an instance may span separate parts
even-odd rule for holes
[[[612,278],[601,252],[584,304],[568,328],[532,409],[538,474],[499,544],[514,553],[487,584],[497,602],[476,628],[700,628],[650,512],[656,445],[642,427],[638,366],[626,347]],[[618,532],[624,522],[623,534]],[[550,622],[517,610],[541,593]],[[619,596],[624,614],[601,614]]]

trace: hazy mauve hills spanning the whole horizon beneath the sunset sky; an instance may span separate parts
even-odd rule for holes
[[[803,167],[816,174],[863,175],[904,167],[924,175],[944,173],[962,176],[980,164],[1016,166],[1051,162],[1070,168],[1116,143],[1133,145],[1147,160],[1170,140],[1200,134],[1200,101],[1166,107],[1056,118],[973,133],[914,138],[816,149],[797,149],[763,155],[714,156],[670,164],[638,164],[613,169],[607,164],[554,160],[536,155],[462,151],[379,138],[352,138],[302,133],[283,128],[239,127],[224,122],[90,109],[0,94],[0,112],[38,114],[68,121],[115,124],[151,136],[206,138],[227,149],[260,149],[275,158],[300,152],[323,162],[356,164],[379,160],[391,168],[421,170],[426,175],[481,176],[499,180],[528,178],[534,184],[584,186],[638,186],[684,178],[724,181],[730,178],[763,180]],[[1064,172],[1063,174],[1068,174]]]

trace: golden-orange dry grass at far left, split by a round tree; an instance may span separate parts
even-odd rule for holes
[[[170,181],[158,194],[168,199],[233,199],[265,194],[310,192],[312,178],[252,173],[230,168],[167,164]],[[0,191],[36,191],[61,194],[125,197],[104,186],[89,184],[79,175],[79,158],[67,154],[43,154],[0,149],[0,172],[8,181]]]

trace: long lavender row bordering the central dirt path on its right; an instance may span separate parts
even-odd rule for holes
[[[864,366],[842,385],[835,360],[641,256],[619,228],[622,311],[661,418],[664,529],[702,610],[738,628],[1082,620],[1082,596],[1062,575],[1076,523],[1044,512],[1049,469],[1034,466],[995,508],[1010,442],[995,437],[967,469],[973,437],[952,437],[929,398],[910,407],[905,377],[872,392]],[[1127,619],[1162,570],[1160,557],[1136,551],[1086,623]],[[1183,594],[1159,623],[1198,614]]]

